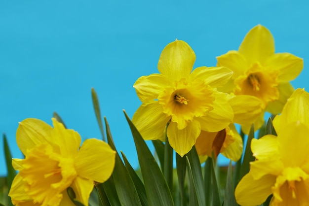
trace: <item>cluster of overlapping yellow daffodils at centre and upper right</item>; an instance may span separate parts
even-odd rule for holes
[[[277,114],[294,91],[289,83],[303,69],[303,60],[274,53],[269,30],[258,25],[238,51],[218,59],[217,67],[193,70],[195,54],[184,41],[168,44],[158,62],[160,73],[134,84],[142,101],[133,123],[144,139],[165,139],[184,156],[195,144],[200,161],[222,153],[237,161],[242,139],[233,123],[248,133],[264,123],[265,111]],[[166,128],[167,126],[167,128]]]

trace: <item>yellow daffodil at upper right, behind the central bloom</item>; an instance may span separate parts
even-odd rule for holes
[[[295,79],[303,69],[303,59],[290,53],[274,53],[274,40],[270,31],[258,25],[251,29],[238,51],[217,57],[218,67],[232,69],[231,80],[222,88],[223,92],[235,95],[252,95],[259,98],[264,109],[255,121],[255,130],[264,123],[264,112],[281,112],[294,88],[289,81]],[[248,132],[245,127],[244,132]]]

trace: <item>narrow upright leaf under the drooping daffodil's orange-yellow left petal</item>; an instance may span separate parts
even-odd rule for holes
[[[206,206],[212,206],[211,170],[212,170],[212,159],[208,157],[204,166],[204,188],[205,188]]]

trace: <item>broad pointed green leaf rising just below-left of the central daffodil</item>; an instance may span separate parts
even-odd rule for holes
[[[163,174],[157,165],[143,137],[137,131],[128,115],[125,118],[130,126],[145,183],[146,194],[150,206],[173,206],[173,199]]]

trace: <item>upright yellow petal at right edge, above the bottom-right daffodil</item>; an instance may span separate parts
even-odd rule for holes
[[[273,127],[277,134],[291,122],[302,122],[309,127],[309,93],[298,88],[294,91],[282,113],[273,119]]]

